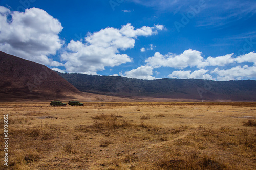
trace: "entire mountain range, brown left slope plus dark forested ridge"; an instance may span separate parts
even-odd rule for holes
[[[0,101],[256,101],[254,80],[141,80],[121,76],[61,74],[1,51],[0,71]]]

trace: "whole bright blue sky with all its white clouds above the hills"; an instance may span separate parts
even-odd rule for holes
[[[0,50],[60,72],[256,80],[255,1],[0,1]]]

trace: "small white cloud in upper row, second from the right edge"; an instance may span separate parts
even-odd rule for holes
[[[208,57],[206,62],[208,62],[208,65],[211,66],[225,66],[234,62],[234,59],[231,58],[232,56],[233,54],[227,54],[219,57]]]

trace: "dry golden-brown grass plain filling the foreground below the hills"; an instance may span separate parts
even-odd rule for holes
[[[9,169],[256,168],[256,103],[0,103],[0,112]]]

